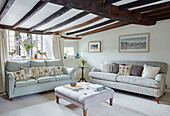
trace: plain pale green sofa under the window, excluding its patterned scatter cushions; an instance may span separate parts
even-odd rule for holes
[[[10,100],[18,96],[53,90],[56,86],[69,84],[74,81],[75,69],[63,67],[64,74],[15,82],[12,72],[19,71],[21,67],[63,66],[61,60],[7,61],[5,65],[5,90]]]

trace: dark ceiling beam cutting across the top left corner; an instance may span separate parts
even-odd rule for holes
[[[14,1],[15,0],[6,0],[5,5],[3,6],[2,10],[0,11],[0,21],[5,16],[5,14],[8,12],[8,10],[11,8]]]

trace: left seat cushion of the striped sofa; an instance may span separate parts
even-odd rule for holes
[[[116,81],[118,74],[114,73],[104,73],[104,72],[90,72],[89,77],[108,80],[108,81]]]

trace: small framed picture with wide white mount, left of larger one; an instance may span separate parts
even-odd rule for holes
[[[91,42],[89,42],[88,50],[91,53],[101,52],[101,41],[91,41]]]

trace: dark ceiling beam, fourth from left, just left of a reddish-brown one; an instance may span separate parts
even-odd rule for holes
[[[49,31],[51,31],[51,30],[57,29],[57,28],[59,28],[59,27],[62,27],[62,26],[64,26],[64,25],[67,25],[67,24],[69,24],[69,23],[72,23],[73,21],[75,21],[75,20],[77,20],[77,19],[79,19],[79,18],[82,18],[82,17],[84,17],[84,16],[86,16],[86,15],[88,15],[88,14],[89,14],[89,13],[87,13],[87,12],[81,12],[81,13],[79,13],[79,14],[71,17],[70,19],[67,19],[67,20],[64,21],[64,22],[61,22],[61,23],[59,23],[59,24],[57,24],[57,25],[54,25],[54,26],[52,26],[52,27],[50,27],[50,28],[48,28],[48,29],[45,29],[43,32],[46,33],[46,32],[49,32]]]

